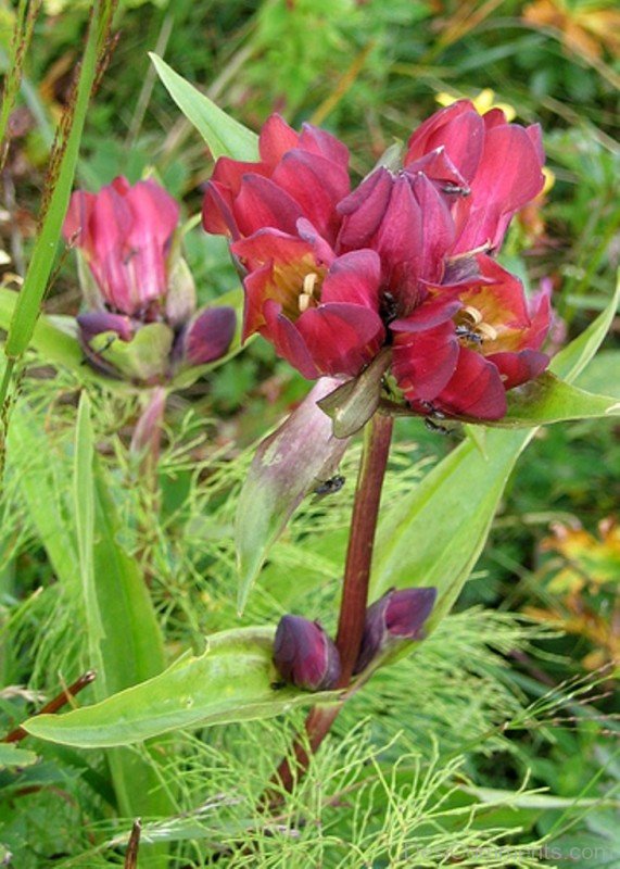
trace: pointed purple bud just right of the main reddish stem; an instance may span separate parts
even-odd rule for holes
[[[380,652],[400,640],[423,639],[422,628],[435,599],[436,589],[392,589],[369,606],[354,672],[365,670]]]

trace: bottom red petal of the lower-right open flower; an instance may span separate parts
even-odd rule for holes
[[[484,356],[460,348],[456,370],[434,404],[454,416],[501,419],[506,414],[506,393],[499,371]]]

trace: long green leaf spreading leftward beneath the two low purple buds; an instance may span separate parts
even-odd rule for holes
[[[94,706],[36,716],[24,727],[52,742],[106,747],[178,728],[269,718],[317,697],[333,697],[279,685],[271,662],[274,635],[273,628],[214,634],[202,655],[184,656],[154,679]]]

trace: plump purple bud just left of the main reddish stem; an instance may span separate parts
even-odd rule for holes
[[[340,655],[318,621],[282,616],[274,642],[274,664],[287,682],[306,691],[333,688]]]

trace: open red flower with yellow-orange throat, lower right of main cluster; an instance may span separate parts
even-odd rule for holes
[[[506,390],[541,374],[549,324],[548,292],[530,306],[520,281],[489,256],[477,257],[475,282],[429,292],[391,324],[393,373],[420,413],[501,419]]]

